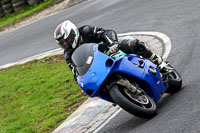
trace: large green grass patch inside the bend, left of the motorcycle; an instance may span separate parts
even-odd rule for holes
[[[87,98],[62,56],[0,70],[0,133],[52,132]]]

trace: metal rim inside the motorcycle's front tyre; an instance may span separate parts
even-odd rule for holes
[[[122,94],[129,99],[135,105],[138,105],[142,108],[152,108],[152,101],[146,96],[145,93],[133,94],[127,88],[123,87]]]

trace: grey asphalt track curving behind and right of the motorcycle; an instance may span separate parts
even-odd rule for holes
[[[120,112],[99,132],[200,132],[200,1],[89,0],[59,14],[0,36],[0,65],[58,48],[53,40],[57,24],[70,19],[115,29],[118,33],[158,31],[168,35],[168,57],[183,78],[183,88],[158,103],[158,115],[146,120]]]

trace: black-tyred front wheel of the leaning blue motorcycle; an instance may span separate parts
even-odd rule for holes
[[[113,85],[110,89],[110,96],[116,104],[135,116],[149,119],[157,114],[154,100],[145,92],[136,95],[125,86]]]

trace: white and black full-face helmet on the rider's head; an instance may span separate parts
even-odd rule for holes
[[[71,21],[64,21],[55,29],[54,38],[61,48],[75,49],[79,39],[78,28]]]

